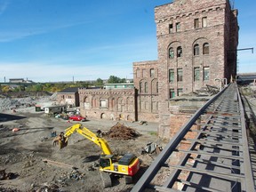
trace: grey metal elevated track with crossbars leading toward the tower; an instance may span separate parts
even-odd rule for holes
[[[180,128],[132,192],[255,191],[246,132],[237,85],[229,84]]]

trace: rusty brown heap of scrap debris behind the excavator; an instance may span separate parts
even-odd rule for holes
[[[116,140],[132,140],[139,137],[140,133],[136,132],[131,127],[117,123],[112,126],[108,132],[104,132],[103,135]]]

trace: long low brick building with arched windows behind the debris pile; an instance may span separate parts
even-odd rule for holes
[[[106,89],[80,88],[80,113],[88,118],[136,121],[136,90],[133,84],[108,84]],[[121,88],[120,88],[121,87]],[[124,88],[126,87],[126,88]]]

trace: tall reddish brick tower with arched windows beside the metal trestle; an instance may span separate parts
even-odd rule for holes
[[[159,133],[168,136],[172,97],[236,76],[237,11],[228,0],[175,0],[157,6],[155,20]]]

